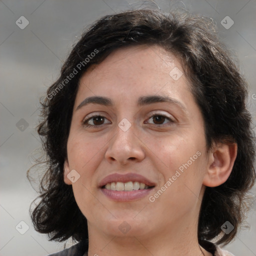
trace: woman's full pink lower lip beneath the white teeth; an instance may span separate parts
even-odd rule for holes
[[[132,190],[132,191],[116,191],[116,190],[110,190],[106,188],[101,188],[101,191],[104,195],[106,195],[108,198],[114,200],[114,201],[132,201],[132,200],[138,200],[142,197],[145,197],[150,193],[150,191],[153,189],[153,187],[148,189],[138,189],[138,190]]]

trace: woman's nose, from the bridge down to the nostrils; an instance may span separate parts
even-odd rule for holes
[[[139,162],[145,158],[143,143],[132,127],[123,131],[118,126],[115,135],[110,139],[105,158],[108,162],[121,165],[129,162]]]

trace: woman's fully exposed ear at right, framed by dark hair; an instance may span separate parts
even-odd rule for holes
[[[217,143],[209,152],[205,186],[219,186],[229,177],[237,155],[237,144]]]

